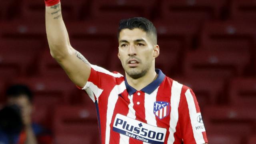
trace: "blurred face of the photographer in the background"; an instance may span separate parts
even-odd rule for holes
[[[18,97],[10,97],[8,98],[7,103],[10,105],[16,104],[20,107],[23,120],[30,118],[30,115],[32,114],[33,106],[26,95],[20,95]]]

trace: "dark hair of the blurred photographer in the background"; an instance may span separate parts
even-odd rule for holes
[[[26,95],[28,97],[28,100],[32,103],[33,95],[31,90],[28,88],[28,86],[24,84],[14,84],[8,87],[6,90],[7,98],[18,97],[22,94]]]

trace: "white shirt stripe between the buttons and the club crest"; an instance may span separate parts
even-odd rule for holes
[[[158,88],[156,88],[156,90],[154,90],[154,92],[152,92],[151,94],[145,93],[145,99],[144,99],[145,120],[147,121],[147,124],[150,124],[151,126],[157,126],[156,116],[154,114],[154,102],[156,102],[156,95],[158,92]],[[158,112],[156,112],[156,115],[157,114]],[[143,144],[148,144],[148,143],[143,142]]]

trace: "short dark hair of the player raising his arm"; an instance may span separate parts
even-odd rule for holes
[[[129,18],[129,19],[124,19],[120,20],[119,22],[119,27],[118,27],[118,38],[120,36],[120,32],[123,29],[130,29],[133,30],[134,28],[139,28],[143,30],[146,33],[153,34],[155,37],[155,42],[157,42],[157,32],[156,32],[156,27],[150,20],[142,17],[135,17],[135,18]]]

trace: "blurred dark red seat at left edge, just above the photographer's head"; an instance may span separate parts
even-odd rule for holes
[[[0,40],[0,77],[10,78],[28,75],[36,62],[41,45],[38,40],[5,39]]]

